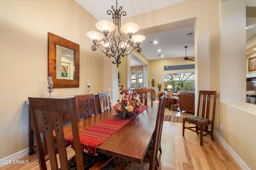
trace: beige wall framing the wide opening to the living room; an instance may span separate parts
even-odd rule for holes
[[[199,6],[200,10],[198,10]],[[196,90],[216,90],[216,56],[220,51],[220,0],[188,0],[124,19],[123,23],[139,23],[141,29],[146,29],[190,18],[196,18],[194,23]],[[155,68],[149,64],[148,72],[150,69]],[[149,77],[149,83],[151,79]]]

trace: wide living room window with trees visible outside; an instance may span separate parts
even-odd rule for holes
[[[164,74],[164,90],[168,85],[172,85],[172,92],[195,90],[195,73],[181,72],[181,73],[165,73]]]

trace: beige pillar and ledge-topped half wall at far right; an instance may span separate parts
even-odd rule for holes
[[[247,165],[256,169],[256,105],[246,103],[246,9],[245,1],[221,3],[220,107],[216,129],[229,147]],[[236,29],[230,29],[230,28]],[[236,36],[234,36],[236,35]],[[232,50],[230,50],[232,45]],[[218,125],[217,124],[217,125]],[[242,162],[238,160],[238,162]]]

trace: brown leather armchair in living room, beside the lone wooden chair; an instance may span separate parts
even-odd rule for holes
[[[189,113],[195,113],[195,92],[193,91],[182,91],[178,94],[177,103],[180,111],[186,111]]]

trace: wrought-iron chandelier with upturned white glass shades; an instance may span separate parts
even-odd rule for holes
[[[86,35],[94,45],[92,51],[96,51],[97,47],[108,57],[114,57],[113,64],[121,63],[121,57],[129,55],[134,49],[138,53],[141,52],[140,43],[146,39],[143,35],[133,35],[139,30],[136,23],[126,23],[121,27],[121,15],[126,16],[126,12],[122,11],[122,6],[118,9],[116,0],[116,10],[112,6],[112,11],[108,10],[107,14],[112,15],[113,23],[110,21],[98,21],[96,28],[102,33],[90,31]],[[102,40],[103,39],[103,40]],[[102,40],[101,42],[99,42]]]

